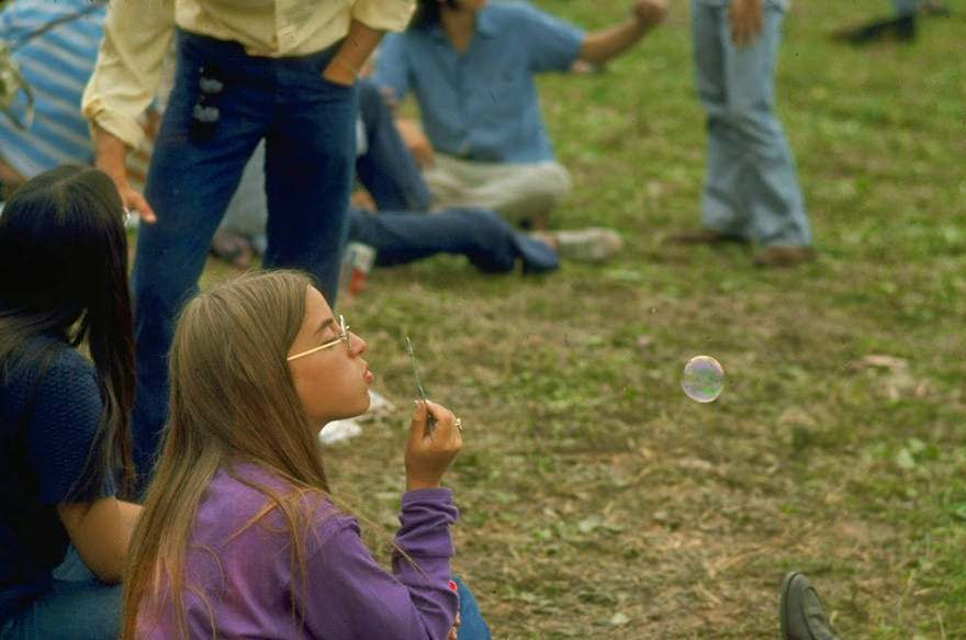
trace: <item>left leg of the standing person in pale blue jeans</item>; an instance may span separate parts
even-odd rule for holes
[[[698,100],[707,116],[705,183],[701,221],[705,227],[733,237],[748,237],[748,216],[740,200],[741,147],[728,111],[724,76],[727,7],[692,0],[692,38]],[[726,33],[727,35],[727,33]]]

